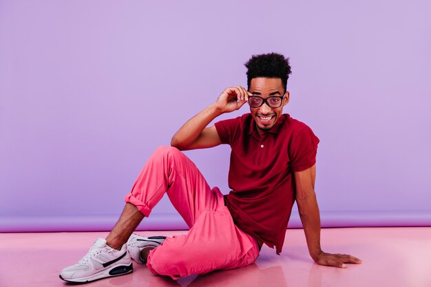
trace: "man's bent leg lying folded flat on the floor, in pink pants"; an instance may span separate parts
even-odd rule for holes
[[[221,195],[221,194],[220,194]],[[255,262],[257,242],[233,223],[227,207],[202,211],[187,235],[168,238],[150,251],[147,267],[173,279]]]

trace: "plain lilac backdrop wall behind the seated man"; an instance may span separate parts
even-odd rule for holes
[[[323,226],[431,225],[430,1],[0,1],[0,231],[106,230],[252,54],[291,58]],[[231,118],[248,111],[220,116]],[[229,147],[188,151],[225,192]],[[299,226],[294,211],[291,226]],[[140,228],[185,228],[165,198]]]

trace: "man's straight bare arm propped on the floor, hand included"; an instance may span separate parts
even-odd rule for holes
[[[314,191],[316,165],[294,174],[299,216],[301,217],[302,226],[304,226],[308,252],[313,260],[320,265],[339,268],[346,268],[346,263],[360,264],[361,259],[352,255],[324,253],[320,248],[320,215]]]

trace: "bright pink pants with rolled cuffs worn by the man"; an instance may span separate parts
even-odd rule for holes
[[[165,193],[190,231],[167,238],[149,253],[152,273],[178,279],[255,262],[257,242],[235,226],[220,190],[211,190],[196,165],[174,147],[156,149],[125,202],[148,217]]]

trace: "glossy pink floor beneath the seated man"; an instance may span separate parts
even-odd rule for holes
[[[142,235],[174,235],[187,231],[141,231]],[[60,270],[75,264],[96,237],[107,233],[0,234],[0,287],[67,286]],[[325,228],[322,246],[331,253],[350,253],[363,260],[346,269],[314,264],[302,229],[286,233],[278,256],[264,246],[255,264],[245,268],[190,276],[178,281],[154,276],[143,265],[134,273],[84,286],[403,286],[431,287],[431,227]]]

